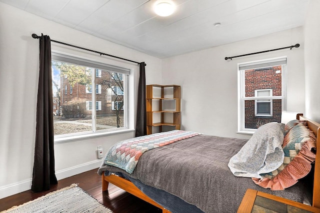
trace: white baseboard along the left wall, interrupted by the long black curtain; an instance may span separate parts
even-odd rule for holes
[[[82,172],[96,169],[101,165],[101,163],[102,163],[102,160],[95,160],[85,164],[80,164],[74,167],[56,171],[55,176],[57,180],[61,180],[67,177],[71,177],[73,175],[80,174]],[[30,190],[31,184],[32,184],[32,179],[27,179],[14,184],[9,184],[9,185],[0,187],[0,199],[11,196],[11,195],[15,195],[20,192]]]

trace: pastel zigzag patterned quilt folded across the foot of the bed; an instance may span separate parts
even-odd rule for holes
[[[118,167],[131,174],[142,153],[199,134],[196,132],[172,130],[123,140],[114,144],[109,149],[104,157],[104,163]]]

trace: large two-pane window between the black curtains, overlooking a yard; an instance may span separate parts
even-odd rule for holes
[[[54,140],[128,129],[129,75],[126,68],[52,53],[53,99],[60,109],[53,112]],[[67,87],[70,95],[64,96]]]

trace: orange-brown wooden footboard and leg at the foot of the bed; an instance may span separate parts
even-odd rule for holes
[[[116,175],[104,176],[104,174],[102,174],[102,191],[106,191],[108,189],[109,183],[161,209],[162,213],[170,213],[168,210],[164,209],[158,203],[156,203],[155,201],[147,197],[144,193],[142,193],[136,186],[134,186],[134,184],[132,184],[132,182]]]

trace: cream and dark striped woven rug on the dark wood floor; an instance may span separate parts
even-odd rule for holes
[[[112,213],[76,184],[1,213]]]

